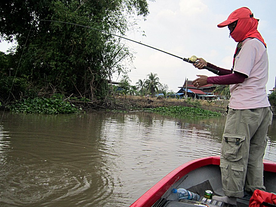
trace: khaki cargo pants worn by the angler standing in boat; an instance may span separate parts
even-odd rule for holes
[[[220,149],[222,187],[226,196],[243,197],[243,190],[265,190],[263,155],[271,121],[271,107],[229,108]]]

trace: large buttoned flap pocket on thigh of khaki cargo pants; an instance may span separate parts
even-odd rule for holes
[[[245,135],[224,133],[221,144],[221,155],[228,161],[238,161],[243,157]]]

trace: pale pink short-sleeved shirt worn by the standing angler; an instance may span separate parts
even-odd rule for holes
[[[230,85],[232,109],[253,109],[270,106],[266,94],[268,56],[256,38],[247,40],[235,58],[234,71],[248,76],[244,82]]]

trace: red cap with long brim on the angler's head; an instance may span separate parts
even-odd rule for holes
[[[218,27],[226,27],[227,25],[233,23],[234,21],[237,21],[238,19],[246,19],[246,18],[251,18],[253,17],[252,12],[247,8],[247,7],[242,7],[240,9],[237,9],[233,11],[227,20],[221,22],[218,24]]]

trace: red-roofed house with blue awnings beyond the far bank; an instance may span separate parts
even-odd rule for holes
[[[211,98],[220,98],[220,95],[218,93],[213,93],[215,88],[218,85],[216,84],[207,84],[205,86],[201,86],[200,88],[195,87],[192,84],[191,80],[185,80],[184,84],[178,90],[177,93],[183,93],[184,97],[187,94],[187,97],[197,98],[197,99],[211,99]],[[187,89],[187,92],[186,92]]]

